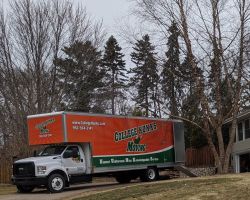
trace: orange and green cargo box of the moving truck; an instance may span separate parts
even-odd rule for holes
[[[30,145],[91,144],[93,165],[174,162],[173,121],[59,112],[28,117]]]

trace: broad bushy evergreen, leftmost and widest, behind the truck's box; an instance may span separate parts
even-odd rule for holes
[[[54,63],[63,87],[65,109],[82,112],[90,112],[92,108],[98,110],[95,98],[103,86],[101,52],[90,41],[76,41],[65,47],[63,52],[66,57],[55,59]]]

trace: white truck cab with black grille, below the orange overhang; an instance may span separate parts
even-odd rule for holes
[[[86,169],[82,146],[51,145],[36,157],[14,162],[12,181],[20,192],[31,192],[41,185],[50,192],[61,192],[70,183],[84,182]]]

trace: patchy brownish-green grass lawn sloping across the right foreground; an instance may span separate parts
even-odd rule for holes
[[[84,194],[83,194],[84,195]],[[250,174],[176,179],[128,186],[74,200],[250,199]]]

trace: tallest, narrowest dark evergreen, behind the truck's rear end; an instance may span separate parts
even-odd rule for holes
[[[181,79],[180,50],[178,37],[180,35],[177,24],[175,22],[169,28],[170,36],[168,38],[166,52],[167,60],[163,65],[162,91],[165,99],[169,101],[169,110],[171,115],[178,116],[178,108],[180,96],[182,94],[183,82]]]

